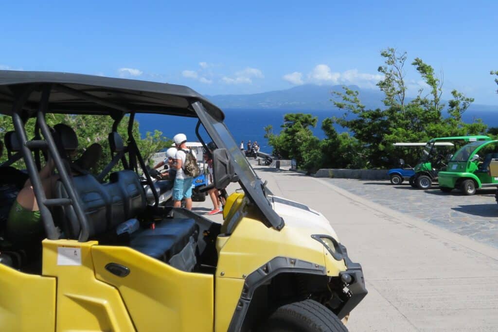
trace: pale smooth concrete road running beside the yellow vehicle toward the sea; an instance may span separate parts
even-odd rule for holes
[[[369,294],[350,331],[498,331],[498,249],[367,200],[374,189],[360,197],[333,181],[255,168],[275,195],[322,212],[362,263]],[[437,209],[439,195],[424,195],[425,209]]]

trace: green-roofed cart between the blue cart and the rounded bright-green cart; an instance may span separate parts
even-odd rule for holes
[[[422,157],[414,168],[412,187],[424,190],[431,188],[432,183],[438,181],[439,172],[446,170],[449,160],[461,145],[486,140],[491,138],[482,135],[432,138],[425,145]]]

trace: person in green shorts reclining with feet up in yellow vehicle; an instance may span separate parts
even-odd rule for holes
[[[101,154],[102,147],[100,144],[92,144],[75,163],[86,170],[91,169],[95,167]],[[59,175],[53,174],[55,163],[50,154],[47,155],[47,162],[38,174],[45,197],[51,199],[55,197],[55,186],[59,180]],[[73,170],[72,175],[77,176],[81,174]],[[10,208],[5,226],[5,235],[9,241],[22,245],[40,240],[43,234],[44,229],[41,222],[40,209],[36,202],[33,186],[28,179]]]

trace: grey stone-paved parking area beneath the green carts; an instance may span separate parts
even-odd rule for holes
[[[459,190],[451,193],[443,193],[438,188],[424,191],[413,189],[409,184],[393,186],[389,181],[325,180],[384,207],[498,248],[496,188],[465,196]]]

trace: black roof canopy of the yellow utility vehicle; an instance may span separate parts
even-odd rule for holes
[[[0,114],[10,115],[16,97],[34,87],[23,109],[39,108],[41,87],[51,85],[49,112],[113,114],[151,112],[196,117],[191,104],[201,102],[211,115],[223,112],[194,90],[174,84],[82,74],[0,70]],[[34,113],[34,112],[33,112]]]

